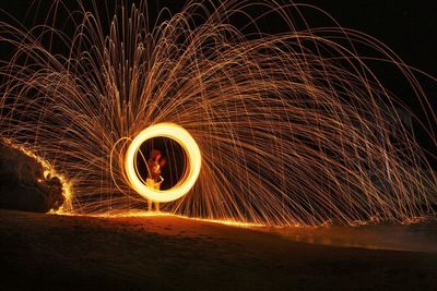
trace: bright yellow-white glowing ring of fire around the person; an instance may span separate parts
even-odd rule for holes
[[[185,172],[178,183],[169,190],[156,190],[147,186],[137,173],[137,154],[140,146],[153,137],[167,137],[177,142],[187,155]],[[200,173],[202,157],[194,138],[175,123],[158,123],[140,132],[129,145],[125,158],[125,169],[130,186],[141,196],[154,202],[172,202],[186,195],[194,185]]]

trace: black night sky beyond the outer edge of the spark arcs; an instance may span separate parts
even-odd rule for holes
[[[0,1],[0,9],[10,13],[17,20],[24,20],[32,0]],[[35,14],[35,5],[27,13],[26,25],[42,23],[47,13],[44,13],[51,1],[43,1],[39,4],[39,13]],[[74,8],[74,1],[68,2]],[[84,1],[90,4],[91,1]],[[97,1],[98,2],[98,1]],[[103,2],[103,1],[102,1]],[[114,3],[114,1],[108,1]],[[138,1],[128,1],[128,3]],[[283,3],[290,3],[282,0]],[[38,3],[38,1],[35,1]],[[160,0],[149,1],[151,13],[167,7],[173,13],[178,12],[184,5],[184,1]],[[341,26],[366,33],[386,44],[391,48],[406,64],[420,69],[434,77],[437,77],[437,1],[430,0],[302,0],[296,3],[316,5],[331,14]],[[105,5],[99,4],[104,8]],[[90,4],[91,8],[91,4]],[[109,9],[109,11],[111,11]],[[105,13],[105,11],[103,11]],[[326,17],[320,17],[319,13],[304,9],[304,15],[310,27],[332,26]],[[60,17],[62,20],[62,17]],[[0,20],[10,19],[1,13]],[[236,20],[235,24],[244,25],[245,20]],[[276,19],[263,20],[259,23],[265,32],[281,32],[283,25]],[[366,53],[364,51],[364,53]],[[8,49],[2,47],[0,58],[8,59]],[[373,68],[374,69],[374,68]],[[423,116],[414,101],[409,86],[400,80],[400,76],[383,66],[376,65],[385,86],[400,97],[417,114]],[[427,77],[417,76],[424,86],[427,96],[433,104],[434,111],[437,110],[437,85]],[[436,129],[436,126],[435,126]],[[437,129],[436,129],[437,130]],[[416,130],[420,143],[430,151],[437,149],[424,134]]]

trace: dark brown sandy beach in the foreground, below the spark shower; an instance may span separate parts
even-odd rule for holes
[[[172,216],[0,210],[0,290],[437,290],[433,251],[318,245]]]

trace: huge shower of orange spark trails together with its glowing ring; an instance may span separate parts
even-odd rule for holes
[[[69,181],[63,213],[128,214],[147,198],[167,202],[164,213],[274,226],[434,215],[437,179],[398,108],[409,110],[368,62],[403,75],[435,145],[437,119],[418,72],[378,40],[333,21],[310,27],[303,10],[329,15],[275,1],[189,1],[157,20],[146,2],[118,2],[109,21],[79,7],[62,21],[72,36],[0,24],[15,48],[0,69],[0,136]],[[263,33],[267,15],[284,32]],[[154,137],[182,148],[168,190],[149,186],[135,161],[152,159],[141,146]]]

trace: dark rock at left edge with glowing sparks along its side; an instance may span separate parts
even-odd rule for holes
[[[58,178],[45,178],[37,160],[0,143],[0,208],[47,213],[63,199]]]

